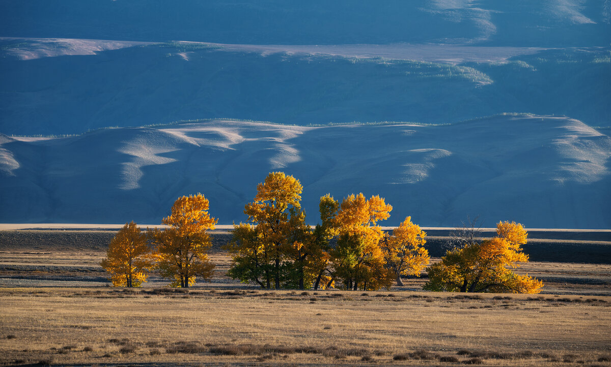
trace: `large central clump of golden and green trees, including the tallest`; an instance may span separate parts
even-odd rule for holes
[[[312,228],[301,193],[299,180],[281,172],[258,185],[244,207],[249,223],[234,225],[225,246],[231,277],[263,288],[378,290],[428,264],[426,233],[411,218],[392,235],[378,226],[392,210],[383,198],[352,194],[340,203],[327,194],[320,199],[321,223]]]

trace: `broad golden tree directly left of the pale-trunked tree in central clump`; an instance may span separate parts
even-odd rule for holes
[[[392,206],[383,198],[365,199],[360,193],[343,199],[335,215],[339,237],[331,252],[335,277],[348,290],[390,288],[392,271],[384,265],[380,240],[384,237],[378,221],[390,216]]]

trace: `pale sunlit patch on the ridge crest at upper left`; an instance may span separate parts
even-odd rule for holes
[[[5,52],[20,60],[40,59],[65,55],[95,55],[98,52],[122,49],[141,45],[152,45],[152,42],[82,40],[76,38],[16,38],[0,37],[0,41],[18,41],[14,47],[7,45]]]

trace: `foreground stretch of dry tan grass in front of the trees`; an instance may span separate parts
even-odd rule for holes
[[[1,288],[0,361],[611,365],[611,298]]]

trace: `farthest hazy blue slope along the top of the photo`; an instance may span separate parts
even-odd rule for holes
[[[0,1],[4,37],[608,46],[609,0]]]

